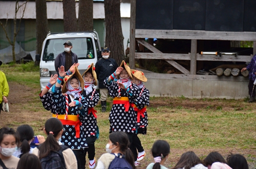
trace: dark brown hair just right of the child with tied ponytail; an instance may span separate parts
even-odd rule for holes
[[[178,163],[175,165],[175,167],[173,167],[173,169],[178,169],[183,167],[185,167],[185,169],[189,169],[200,163],[201,163],[200,158],[193,151],[189,151],[181,155]]]

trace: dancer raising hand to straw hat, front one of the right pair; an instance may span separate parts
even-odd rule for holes
[[[136,132],[135,112],[133,98],[139,96],[139,88],[131,82],[132,74],[129,66],[122,61],[120,67],[104,81],[110,96],[113,98],[113,106],[110,111],[110,133],[123,131],[132,142],[133,133]],[[118,79],[117,82],[115,79]]]

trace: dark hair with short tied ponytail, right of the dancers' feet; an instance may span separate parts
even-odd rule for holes
[[[156,140],[151,149],[153,157],[161,157],[163,159],[170,153],[169,143],[165,140]],[[160,162],[156,162],[153,169],[160,169]]]

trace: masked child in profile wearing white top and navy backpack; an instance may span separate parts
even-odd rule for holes
[[[96,169],[102,168],[126,168],[135,169],[133,153],[129,149],[127,134],[117,131],[109,135],[109,142],[106,144],[106,152],[98,160]]]

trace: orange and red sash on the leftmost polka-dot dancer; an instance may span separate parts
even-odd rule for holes
[[[80,122],[79,118],[77,115],[68,115],[68,119],[65,119],[66,114],[58,114],[58,119],[62,123],[62,125],[70,125],[70,126],[75,126],[76,130],[76,138],[80,137],[80,127],[82,123]],[[52,114],[52,117],[56,117],[56,114]]]

